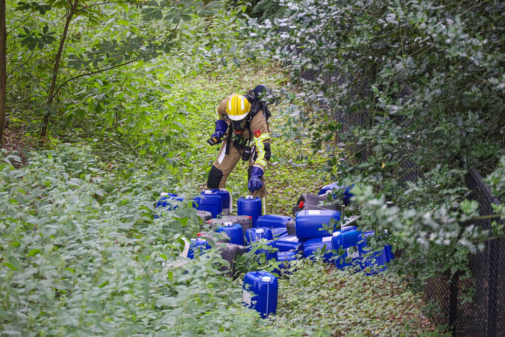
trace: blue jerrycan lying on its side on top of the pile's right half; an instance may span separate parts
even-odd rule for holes
[[[324,238],[331,236],[323,229],[323,225],[330,226],[333,230],[337,228],[340,221],[340,212],[333,210],[304,210],[296,213],[295,228],[296,237],[302,241],[314,238]]]

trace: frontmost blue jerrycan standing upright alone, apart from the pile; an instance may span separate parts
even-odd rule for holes
[[[277,277],[266,271],[249,271],[244,275],[242,303],[267,318],[277,311],[278,291]]]

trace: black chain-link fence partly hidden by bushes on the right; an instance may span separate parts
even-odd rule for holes
[[[339,77],[336,74],[324,77],[335,83]],[[321,73],[314,70],[302,73],[302,78],[309,81],[321,81]],[[332,82],[333,81],[333,82]],[[407,97],[412,89],[403,84],[403,89],[397,97]],[[370,146],[358,146],[354,139],[352,128],[367,128],[368,113],[346,113],[342,110],[334,111],[333,119],[341,123],[342,128],[337,134],[337,141],[351,156],[352,163],[366,161],[372,151]],[[405,119],[405,116],[394,116],[394,119]],[[403,122],[396,120],[396,123]],[[399,171],[402,181],[414,181],[420,177],[417,165],[409,157],[408,149],[397,149],[402,158]],[[358,154],[358,155],[356,155]],[[493,220],[491,204],[498,203],[498,199],[491,195],[484,184],[482,176],[475,169],[466,176],[467,186],[472,190],[470,199],[479,203],[481,219],[473,222],[483,230],[489,230]],[[488,217],[486,217],[488,216]],[[457,336],[505,336],[505,238],[489,237],[485,241],[485,249],[469,256],[468,266],[472,272],[470,278],[460,278],[458,273],[450,275],[445,272],[439,277],[432,278],[425,286],[425,299],[436,305],[434,320],[447,324],[453,335]]]

